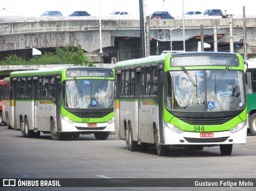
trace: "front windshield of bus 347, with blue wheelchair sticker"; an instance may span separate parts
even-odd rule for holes
[[[66,80],[63,85],[65,108],[98,109],[113,108],[114,81],[76,79]]]

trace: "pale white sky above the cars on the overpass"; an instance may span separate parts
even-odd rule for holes
[[[246,16],[255,16],[254,0],[183,0],[184,13],[206,9],[226,9],[228,14],[241,16],[245,6]],[[5,8],[6,10],[4,10]],[[91,16],[108,16],[114,11],[126,11],[139,17],[139,0],[0,0],[1,16],[40,16],[46,11],[60,11],[68,16],[74,11],[85,10]],[[168,11],[172,16],[182,16],[182,0],[144,0],[144,14]]]

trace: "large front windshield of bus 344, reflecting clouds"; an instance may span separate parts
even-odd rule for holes
[[[235,70],[169,71],[165,106],[188,112],[241,110],[246,102],[243,75]]]

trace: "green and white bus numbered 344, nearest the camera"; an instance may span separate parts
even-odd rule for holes
[[[130,151],[203,150],[245,144],[244,61],[236,53],[183,52],[121,61],[115,68],[115,131]]]

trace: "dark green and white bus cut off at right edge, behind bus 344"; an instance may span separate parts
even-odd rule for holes
[[[256,136],[256,60],[255,61],[247,61],[248,69],[246,69],[247,73],[250,73],[250,81],[251,81],[251,91],[247,90],[247,113],[248,113],[248,128],[250,128],[250,132]],[[248,79],[249,81],[249,79]]]

